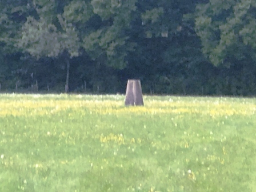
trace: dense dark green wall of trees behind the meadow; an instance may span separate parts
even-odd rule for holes
[[[254,1],[0,2],[0,89],[256,94]]]

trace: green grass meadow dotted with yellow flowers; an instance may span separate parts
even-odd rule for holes
[[[256,191],[256,99],[0,94],[0,191]]]

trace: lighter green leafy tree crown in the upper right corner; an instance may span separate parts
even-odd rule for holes
[[[211,0],[197,5],[195,30],[213,65],[255,61],[256,3]]]

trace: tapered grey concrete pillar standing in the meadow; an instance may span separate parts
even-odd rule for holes
[[[139,79],[129,79],[127,81],[125,105],[144,105]]]

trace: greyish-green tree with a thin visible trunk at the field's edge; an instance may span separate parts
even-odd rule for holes
[[[37,11],[34,17],[27,17],[22,26],[21,38],[17,47],[33,57],[58,57],[65,55],[66,85],[69,90],[70,58],[77,57],[80,47],[78,31],[75,26],[66,21],[62,14],[57,13],[57,3],[54,1],[33,2]]]

